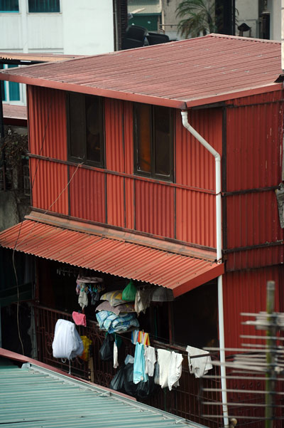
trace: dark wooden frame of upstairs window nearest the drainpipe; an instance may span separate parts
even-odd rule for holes
[[[133,103],[133,140],[134,140],[134,173],[142,177],[149,177],[153,179],[158,179],[167,182],[174,181],[174,171],[173,171],[173,151],[174,151],[174,132],[173,132],[173,109],[170,110],[170,174],[158,174],[155,172],[155,114],[154,109],[155,105],[151,105],[151,172],[141,171],[138,169],[138,121],[137,121],[137,105],[138,103]],[[162,107],[162,106],[161,106]]]

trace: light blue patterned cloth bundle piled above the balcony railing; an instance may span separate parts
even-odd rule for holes
[[[121,313],[116,315],[109,310],[100,310],[97,314],[99,328],[107,330],[108,333],[128,330],[130,327],[139,327],[136,313]]]

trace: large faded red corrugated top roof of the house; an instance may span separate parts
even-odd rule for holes
[[[0,79],[187,108],[282,88],[276,41],[210,34],[145,48],[39,64]]]

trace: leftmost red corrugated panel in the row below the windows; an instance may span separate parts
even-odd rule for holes
[[[31,158],[30,166],[33,207],[68,214],[67,165]]]

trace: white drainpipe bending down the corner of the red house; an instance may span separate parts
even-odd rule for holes
[[[187,110],[182,111],[182,125],[207,149],[215,158],[215,182],[216,182],[216,241],[217,263],[222,263],[222,212],[221,212],[221,156],[209,145],[209,142],[188,123]],[[223,308],[223,276],[218,276],[218,315],[219,315],[219,345],[221,362],[221,385],[224,427],[229,427],[228,406],[226,397],[226,367],[225,340],[224,340],[224,308]]]

